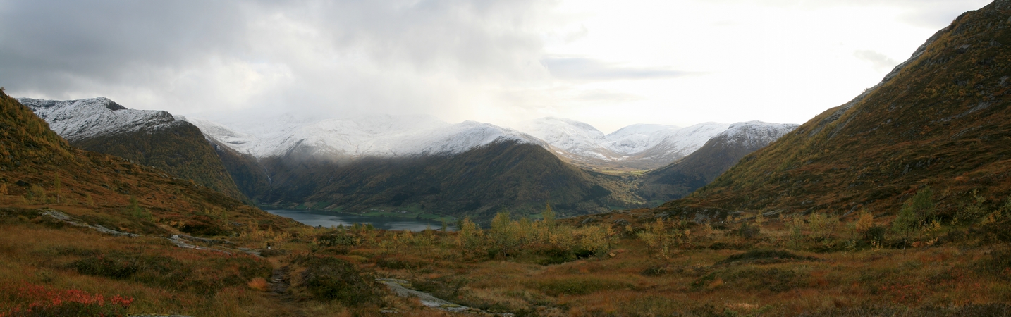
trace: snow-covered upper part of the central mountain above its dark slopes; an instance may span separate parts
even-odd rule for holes
[[[546,146],[514,129],[474,121],[449,124],[425,115],[373,115],[315,122],[282,117],[247,121],[240,128],[203,118],[181,119],[200,127],[208,138],[257,157],[284,155],[295,149],[332,159],[454,154],[504,140]]]

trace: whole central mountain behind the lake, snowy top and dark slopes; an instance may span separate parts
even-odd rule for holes
[[[502,207],[537,213],[549,201],[568,214],[644,203],[623,178],[575,168],[544,141],[487,123],[382,115],[278,120],[239,130],[185,120],[218,146],[244,193],[279,208],[397,209],[484,219]]]

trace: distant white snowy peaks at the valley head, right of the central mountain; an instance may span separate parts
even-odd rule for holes
[[[729,125],[707,122],[688,127],[634,124],[604,134],[566,118],[545,117],[520,124],[566,161],[598,170],[652,170],[692,153]]]

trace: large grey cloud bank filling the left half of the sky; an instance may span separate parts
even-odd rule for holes
[[[452,111],[536,83],[553,1],[3,1],[0,83],[133,108]]]

